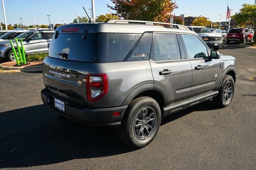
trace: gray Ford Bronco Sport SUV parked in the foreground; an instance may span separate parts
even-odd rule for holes
[[[118,125],[120,139],[141,148],[154,139],[162,117],[209,99],[218,107],[229,105],[235,61],[181,25],[69,24],[54,32],[41,98],[62,118]]]

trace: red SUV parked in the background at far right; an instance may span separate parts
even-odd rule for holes
[[[227,43],[231,41],[242,42],[253,41],[254,32],[248,28],[233,28],[227,34]]]

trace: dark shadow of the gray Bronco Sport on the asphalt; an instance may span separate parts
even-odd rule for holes
[[[212,101],[174,113],[164,118],[162,125],[193,111],[209,109],[214,109]],[[87,127],[55,117],[44,105],[0,113],[0,168],[48,165],[134,151],[119,140],[117,127]]]

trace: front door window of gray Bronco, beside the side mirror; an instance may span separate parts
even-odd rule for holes
[[[188,53],[188,58],[207,57],[208,52],[204,43],[199,38],[192,35],[182,34],[182,38]]]

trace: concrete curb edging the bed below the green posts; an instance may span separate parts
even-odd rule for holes
[[[0,72],[33,72],[33,71],[42,71],[42,65],[32,65],[32,66],[26,66],[26,67],[6,67],[6,66],[2,66],[2,64],[0,64]]]

